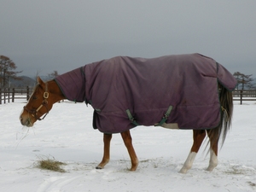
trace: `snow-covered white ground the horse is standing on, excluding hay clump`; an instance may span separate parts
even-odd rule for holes
[[[111,160],[103,170],[102,133],[92,128],[92,108],[56,103],[33,128],[22,127],[25,101],[0,105],[0,191],[256,191],[256,102],[235,103],[232,129],[207,172],[201,148],[187,174],[178,173],[192,145],[192,131],[139,126],[131,130],[140,164],[129,172],[130,158],[119,134],[113,135]],[[38,168],[38,160],[67,163],[67,171]]]

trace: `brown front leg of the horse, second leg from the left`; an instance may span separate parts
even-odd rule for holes
[[[124,140],[125,147],[127,148],[128,153],[131,158],[131,171],[136,171],[137,166],[138,166],[138,160],[137,160],[137,155],[135,153],[135,150],[132,146],[132,139],[131,139],[130,131],[122,132],[121,136]]]

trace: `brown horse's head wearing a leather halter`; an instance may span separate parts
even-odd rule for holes
[[[54,102],[55,96],[49,91],[49,83],[44,83],[38,77],[38,84],[20,114],[20,123],[26,126],[34,125],[43,115],[45,117],[49,113]]]

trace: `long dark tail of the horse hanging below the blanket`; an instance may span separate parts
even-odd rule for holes
[[[218,143],[221,138],[221,146],[223,146],[228,131],[230,130],[231,119],[233,114],[233,96],[232,91],[224,88],[222,84],[218,84],[220,110],[220,123],[217,128],[208,131],[208,137],[213,143]]]

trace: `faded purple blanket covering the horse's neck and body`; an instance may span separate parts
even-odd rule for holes
[[[55,82],[68,100],[90,103],[93,127],[104,133],[163,123],[215,128],[221,111],[218,83],[236,88],[230,72],[200,54],[117,56],[64,73]]]

